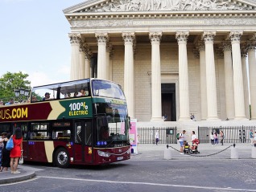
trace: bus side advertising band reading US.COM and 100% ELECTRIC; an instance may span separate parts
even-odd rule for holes
[[[52,100],[37,104],[13,105],[0,108],[1,122],[60,120],[93,117],[92,100]]]

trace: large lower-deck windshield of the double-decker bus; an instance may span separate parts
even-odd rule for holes
[[[97,146],[117,146],[128,141],[127,108],[121,104],[97,104],[97,112],[106,116],[97,118]]]

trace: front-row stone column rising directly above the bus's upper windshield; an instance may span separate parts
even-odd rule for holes
[[[107,66],[106,66],[106,43],[109,41],[109,35],[107,33],[96,33],[97,38],[97,78],[102,80],[108,80]]]

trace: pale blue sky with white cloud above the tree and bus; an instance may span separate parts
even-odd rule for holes
[[[0,0],[0,76],[27,73],[31,86],[68,81],[70,24],[63,10],[85,0]]]

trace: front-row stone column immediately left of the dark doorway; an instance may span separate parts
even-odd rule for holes
[[[150,32],[151,39],[151,84],[152,84],[152,117],[151,121],[162,119],[162,94],[161,94],[161,63],[160,40],[162,32]]]

